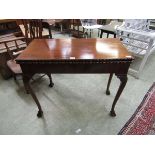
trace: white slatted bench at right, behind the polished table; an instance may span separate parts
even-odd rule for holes
[[[155,31],[149,29],[147,19],[127,19],[124,24],[117,27],[116,35],[121,39],[126,48],[135,56],[135,61],[140,59],[140,64],[130,67],[129,72],[139,78],[149,55],[154,51]]]

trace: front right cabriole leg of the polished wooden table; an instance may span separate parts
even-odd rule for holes
[[[120,79],[121,83],[120,83],[120,86],[118,88],[117,94],[115,96],[115,99],[113,101],[112,108],[111,108],[111,111],[110,111],[110,115],[113,116],[113,117],[116,116],[116,113],[115,113],[115,110],[114,110],[115,105],[116,105],[116,103],[117,103],[117,101],[118,101],[118,99],[119,99],[119,97],[120,97],[126,83],[127,83],[127,80],[128,80],[126,74],[125,75],[116,75],[116,76]]]

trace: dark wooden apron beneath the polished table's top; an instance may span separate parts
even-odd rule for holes
[[[103,64],[21,64],[23,73],[117,73],[127,74],[130,63]]]

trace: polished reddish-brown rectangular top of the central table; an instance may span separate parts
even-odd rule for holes
[[[116,38],[34,39],[16,61],[133,59]]]

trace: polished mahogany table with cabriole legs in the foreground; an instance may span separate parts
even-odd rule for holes
[[[102,74],[110,73],[106,94],[113,73],[120,79],[120,86],[114,98],[111,116],[127,82],[127,72],[133,57],[122,43],[109,39],[35,39],[16,59],[23,71],[23,82],[38,106],[38,117],[42,117],[41,105],[30,86],[30,79],[36,73]],[[90,90],[91,91],[91,90]]]

